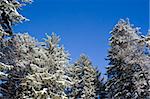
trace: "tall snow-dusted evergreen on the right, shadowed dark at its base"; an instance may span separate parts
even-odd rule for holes
[[[138,28],[120,20],[111,31],[106,86],[109,99],[150,99],[145,43]]]

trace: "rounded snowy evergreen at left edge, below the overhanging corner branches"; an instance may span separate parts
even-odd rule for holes
[[[28,34],[17,34],[10,39],[1,40],[0,44],[0,62],[4,65],[10,65],[11,70],[1,70],[8,74],[5,79],[1,79],[0,87],[3,96],[13,98],[22,78],[29,72],[31,63],[31,48],[36,47],[36,40]],[[3,66],[4,66],[3,65]]]

